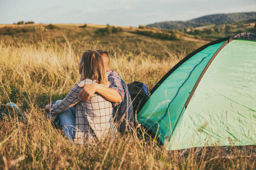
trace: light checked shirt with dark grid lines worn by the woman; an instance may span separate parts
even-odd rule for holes
[[[106,136],[113,138],[117,129],[113,124],[113,107],[110,101],[95,93],[88,101],[81,101],[78,98],[79,84],[96,83],[94,80],[85,79],[77,83],[69,94],[60,102],[51,105],[51,112],[61,113],[71,107],[76,109],[76,132],[74,142],[95,143],[96,138],[101,140]]]

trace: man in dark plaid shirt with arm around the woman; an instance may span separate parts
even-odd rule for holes
[[[85,84],[79,93],[80,100],[87,101],[95,92],[111,101],[114,105],[113,117],[120,131],[131,130],[134,124],[133,104],[126,83],[121,76],[109,69],[109,55],[104,50],[100,53],[106,73],[108,75],[109,88],[100,84]]]

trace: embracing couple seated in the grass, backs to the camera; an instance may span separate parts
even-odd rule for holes
[[[80,82],[69,94],[46,110],[61,122],[67,138],[75,143],[96,143],[115,138],[118,130],[131,130],[134,115],[127,86],[121,76],[109,69],[104,50],[86,50],[79,62]],[[113,123],[115,122],[115,124]]]

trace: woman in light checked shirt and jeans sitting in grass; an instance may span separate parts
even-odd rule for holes
[[[108,86],[103,60],[96,51],[87,50],[79,62],[80,82],[59,103],[51,104],[51,112],[59,114],[61,124],[69,126],[69,135],[77,144],[96,143],[107,136],[115,137],[117,129],[113,124],[112,103],[99,94],[94,94],[88,101],[81,101],[78,97],[81,84],[98,83]],[[72,116],[72,107],[75,116]],[[49,110],[50,104],[46,106]],[[71,109],[70,109],[71,108]],[[68,109],[68,111],[66,111]],[[61,120],[61,114],[68,112],[68,118]],[[68,123],[67,123],[68,122]],[[75,122],[75,125],[74,125]],[[62,125],[62,126],[63,126]],[[75,136],[70,130],[75,126]],[[63,127],[64,128],[64,127]],[[65,130],[64,130],[65,132]]]

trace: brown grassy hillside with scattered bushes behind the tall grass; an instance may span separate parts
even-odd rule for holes
[[[67,37],[72,44],[72,48],[79,50],[93,49],[94,46],[100,46],[101,49],[108,50],[110,54],[113,49],[122,52],[141,52],[148,55],[162,58],[168,56],[166,48],[171,53],[178,55],[191,53],[200,46],[209,41],[185,39],[184,33],[179,31],[164,32],[155,28],[135,28],[118,27],[109,25],[86,24],[23,24],[23,25],[0,25],[0,38],[11,37],[22,42],[38,43],[42,40],[49,44],[61,45]],[[172,40],[172,35],[176,35],[178,40]],[[113,53],[114,54],[114,53]]]

